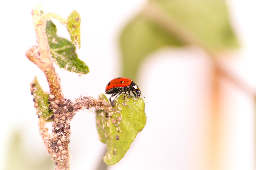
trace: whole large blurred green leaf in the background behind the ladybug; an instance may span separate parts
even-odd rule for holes
[[[149,0],[123,30],[123,76],[136,81],[140,64],[165,46],[199,45],[210,53],[238,46],[225,1]]]

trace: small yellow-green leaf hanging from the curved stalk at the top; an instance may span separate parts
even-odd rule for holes
[[[80,22],[79,13],[74,10],[68,16],[68,24],[66,26],[71,37],[71,43],[76,43],[78,48],[80,48]]]

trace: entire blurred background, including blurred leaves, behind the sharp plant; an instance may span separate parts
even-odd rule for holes
[[[29,90],[35,75],[49,88],[25,57],[36,44],[30,12],[40,2],[45,13],[66,18],[77,10],[81,16],[77,54],[90,73],[57,69],[66,98],[97,97],[110,80],[127,75],[145,97],[146,127],[108,169],[256,168],[256,3],[238,0],[2,2],[0,168],[54,167]],[[70,40],[66,28],[52,21]],[[78,112],[71,130],[71,169],[97,169],[105,146],[95,115]]]

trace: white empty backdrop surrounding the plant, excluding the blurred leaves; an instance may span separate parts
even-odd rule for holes
[[[57,69],[63,93],[72,100],[80,94],[97,97],[104,93],[110,80],[120,76],[118,37],[146,3],[145,0],[1,2],[0,168],[5,166],[8,141],[16,129],[21,130],[24,150],[31,159],[38,160],[46,154],[29,88],[35,75],[45,91],[49,88],[43,73],[25,57],[28,47],[35,44],[30,12],[40,2],[44,12],[66,18],[72,10],[77,10],[81,16],[81,49],[77,53],[90,73],[78,77],[76,73]],[[227,3],[241,48],[228,54],[222,63],[255,89],[256,4],[238,0]],[[57,29],[59,36],[70,39],[64,26],[57,24]],[[165,48],[151,54],[136,82],[145,96],[146,127],[124,158],[109,169],[211,169],[208,134],[211,74],[211,62],[198,47]],[[228,81],[223,80],[220,85],[220,140],[215,169],[255,169],[253,98]],[[71,169],[95,169],[101,159],[104,144],[98,140],[94,117],[93,113],[79,112],[71,122]]]

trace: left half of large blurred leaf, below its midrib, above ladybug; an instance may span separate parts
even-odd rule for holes
[[[140,64],[148,54],[164,46],[182,46],[184,43],[143,15],[138,15],[123,30],[120,37],[123,56],[122,75],[136,81]]]

